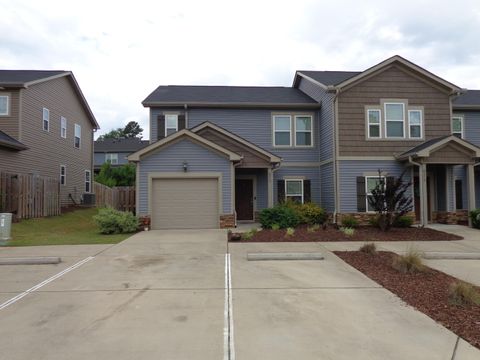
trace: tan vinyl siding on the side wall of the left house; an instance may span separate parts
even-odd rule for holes
[[[62,205],[78,202],[85,191],[85,170],[93,175],[93,125],[73,86],[66,77],[21,90],[21,136],[29,147],[19,152],[0,152],[0,168],[10,172],[36,173],[59,178],[66,165],[66,185],[61,186]],[[42,127],[42,109],[50,110],[50,131]],[[60,116],[67,119],[67,138],[60,136]],[[80,149],[74,147],[74,124],[82,128]],[[93,180],[93,179],[92,179]]]

